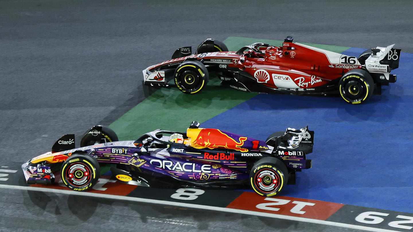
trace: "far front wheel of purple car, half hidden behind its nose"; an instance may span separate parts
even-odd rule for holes
[[[104,125],[95,125],[83,135],[80,146],[86,147],[96,143],[115,141],[119,141],[118,135],[111,128]]]

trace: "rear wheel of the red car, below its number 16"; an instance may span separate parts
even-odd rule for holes
[[[350,104],[366,101],[373,94],[373,90],[373,78],[362,69],[348,71],[339,81],[340,95]]]

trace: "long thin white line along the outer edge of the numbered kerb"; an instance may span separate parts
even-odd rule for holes
[[[73,190],[26,187],[26,186],[17,186],[17,185],[0,185],[0,188],[19,189],[19,190],[28,190],[28,191],[38,191],[38,192],[52,192],[52,193],[70,194],[70,195],[78,195],[78,196],[94,196],[94,197],[114,199],[114,200],[124,200],[124,201],[126,200],[126,201],[136,201],[136,202],[144,202],[144,203],[151,203],[151,204],[162,204],[162,205],[170,205],[170,206],[198,208],[198,209],[206,209],[206,210],[221,211],[221,212],[228,212],[228,213],[242,213],[242,214],[255,215],[255,216],[260,216],[260,217],[279,218],[279,219],[293,220],[293,221],[299,221],[299,222],[305,222],[305,223],[316,223],[316,224],[321,224],[321,225],[331,225],[331,226],[337,226],[337,227],[344,227],[344,228],[357,229],[357,230],[367,230],[367,231],[374,231],[374,232],[397,232],[397,230],[386,230],[386,229],[379,229],[379,228],[373,228],[373,227],[367,227],[367,226],[361,226],[361,225],[336,223],[336,222],[323,221],[323,220],[310,219],[310,218],[299,218],[299,217],[294,217],[294,216],[286,216],[286,215],[279,215],[279,214],[273,214],[273,213],[262,213],[262,212],[256,212],[256,211],[248,211],[248,210],[234,209],[234,208],[223,208],[223,207],[217,207],[217,206],[204,206],[204,205],[181,203],[181,202],[174,202],[174,201],[161,201],[161,200],[145,199],[145,198],[131,197],[131,196],[117,196],[117,195],[101,194],[101,193],[93,193],[93,192],[77,192]]]

